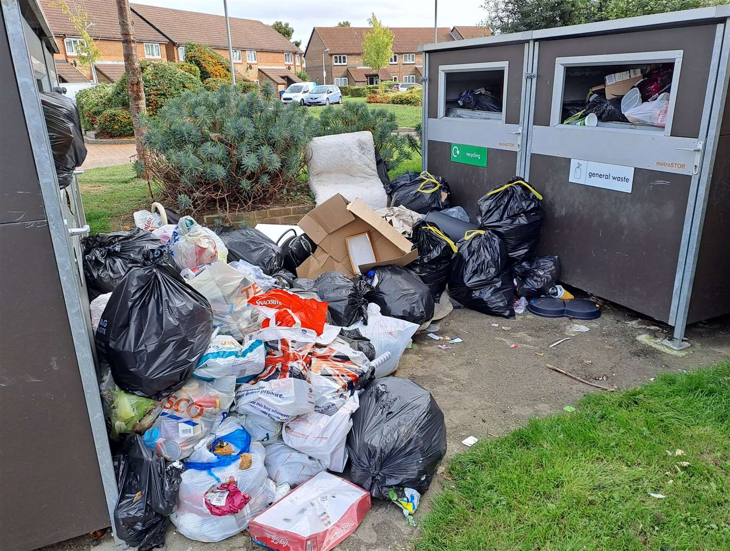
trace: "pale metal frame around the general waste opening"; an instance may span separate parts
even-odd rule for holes
[[[684,50],[664,50],[658,52],[636,52],[636,53],[614,53],[605,56],[572,56],[556,58],[555,80],[553,81],[553,104],[550,109],[550,126],[569,129],[590,129],[591,132],[605,132],[606,129],[618,132],[649,133],[652,135],[672,134],[672,119],[675,114],[675,101],[680,80],[680,69]],[[669,111],[666,113],[666,124],[662,130],[659,126],[631,125],[630,123],[599,123],[599,126],[577,126],[575,124],[563,124],[563,89],[565,88],[565,69],[583,65],[637,65],[653,63],[674,63],[675,69],[672,74],[672,91],[669,94]]]

